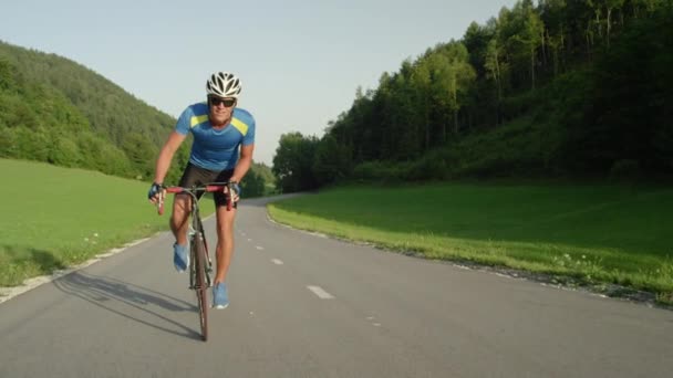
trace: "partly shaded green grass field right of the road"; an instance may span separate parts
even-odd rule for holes
[[[550,274],[673,293],[673,190],[620,185],[351,187],[269,204],[296,228]]]

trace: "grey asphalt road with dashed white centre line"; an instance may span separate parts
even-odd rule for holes
[[[236,238],[208,343],[162,233],[0,304],[0,377],[673,375],[671,311],[293,231],[260,200]]]

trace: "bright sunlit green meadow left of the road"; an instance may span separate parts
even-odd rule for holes
[[[146,199],[146,182],[6,159],[0,171],[0,286],[168,229],[168,217],[158,217]]]

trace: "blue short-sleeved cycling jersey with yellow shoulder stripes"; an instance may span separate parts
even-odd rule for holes
[[[222,129],[214,129],[208,118],[208,104],[187,106],[177,120],[175,130],[191,133],[194,144],[189,162],[208,170],[234,169],[239,146],[255,143],[255,118],[245,109],[234,108],[231,122]]]

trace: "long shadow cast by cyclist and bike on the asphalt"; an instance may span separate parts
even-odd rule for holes
[[[146,326],[164,330],[178,336],[185,336],[194,339],[201,339],[201,336],[195,329],[186,327],[157,311],[156,307],[167,309],[169,312],[194,312],[194,325],[196,322],[196,306],[182,300],[170,297],[156,291],[137,286],[116,279],[97,276],[83,272],[74,272],[64,277],[55,280],[54,286],[65,294],[77,296],[95,306],[110,311],[116,315],[127,319],[135,321]],[[126,311],[120,304],[133,307],[135,309]],[[143,316],[133,315],[138,311]],[[151,322],[147,316],[155,317],[156,322]],[[163,321],[183,332],[173,328],[167,328],[158,325]]]

